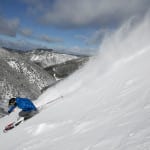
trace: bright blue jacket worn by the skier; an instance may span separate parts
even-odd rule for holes
[[[16,98],[16,105],[15,106],[10,106],[8,113],[11,113],[16,107],[19,107],[23,111],[32,111],[32,110],[37,110],[35,105],[32,103],[32,101],[28,98]]]

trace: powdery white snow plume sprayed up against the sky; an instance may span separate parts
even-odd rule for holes
[[[149,27],[150,13],[143,19],[132,17],[114,33],[106,33],[100,46],[98,59],[101,60],[102,58],[114,62],[149,48]]]

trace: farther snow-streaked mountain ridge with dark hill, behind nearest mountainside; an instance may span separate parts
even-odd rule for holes
[[[89,56],[58,53],[52,49],[37,49],[24,53],[55,78],[64,78],[89,60]]]

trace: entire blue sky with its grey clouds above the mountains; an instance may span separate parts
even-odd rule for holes
[[[92,54],[106,33],[149,8],[149,0],[0,0],[0,45]]]

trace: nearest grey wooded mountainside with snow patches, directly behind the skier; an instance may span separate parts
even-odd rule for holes
[[[26,96],[35,99],[41,90],[55,82],[46,71],[19,53],[0,49],[0,99]]]

